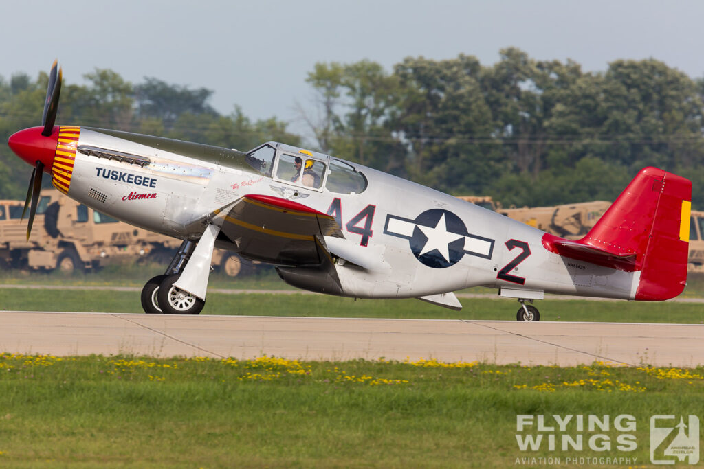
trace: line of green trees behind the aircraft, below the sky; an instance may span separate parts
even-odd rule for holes
[[[318,63],[306,82],[315,103],[299,105],[314,141],[272,118],[220,115],[212,91],[111,70],[62,91],[58,122],[113,127],[229,148],[266,140],[306,144],[456,195],[492,195],[504,205],[612,200],[644,166],[693,181],[704,207],[704,79],[655,59],[616,60],[584,72],[572,60],[501,51],[378,63]],[[37,125],[46,75],[0,79],[0,136]],[[29,169],[0,148],[0,197],[21,198]]]

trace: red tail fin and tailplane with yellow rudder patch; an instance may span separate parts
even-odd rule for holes
[[[692,184],[647,167],[581,240],[546,234],[543,245],[565,257],[641,272],[636,300],[676,297],[687,281]]]

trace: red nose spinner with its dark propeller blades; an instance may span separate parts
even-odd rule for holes
[[[54,60],[54,65],[52,65],[51,74],[49,75],[49,86],[46,89],[42,127],[20,130],[10,136],[8,140],[8,145],[13,152],[34,166],[32,176],[30,176],[30,184],[27,188],[25,208],[22,212],[22,218],[24,219],[27,207],[29,207],[27,239],[30,238],[30,233],[32,233],[34,214],[37,213],[39,191],[42,190],[42,173],[46,171],[51,174],[51,169],[54,166],[54,155],[56,154],[56,145],[58,143],[58,129],[54,129],[54,122],[56,122],[56,112],[58,111],[62,77],[61,69],[57,69],[58,64]]]

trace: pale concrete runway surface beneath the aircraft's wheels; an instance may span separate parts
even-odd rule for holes
[[[1,311],[0,351],[697,366],[704,325]]]

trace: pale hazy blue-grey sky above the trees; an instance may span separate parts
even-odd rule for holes
[[[391,70],[407,56],[465,53],[489,65],[517,46],[584,70],[653,57],[704,76],[702,1],[4,0],[0,18],[6,79],[58,58],[68,83],[111,68],[133,83],[204,86],[220,113],[237,104],[254,120],[293,122],[296,102],[312,108],[305,79],[317,62]]]

